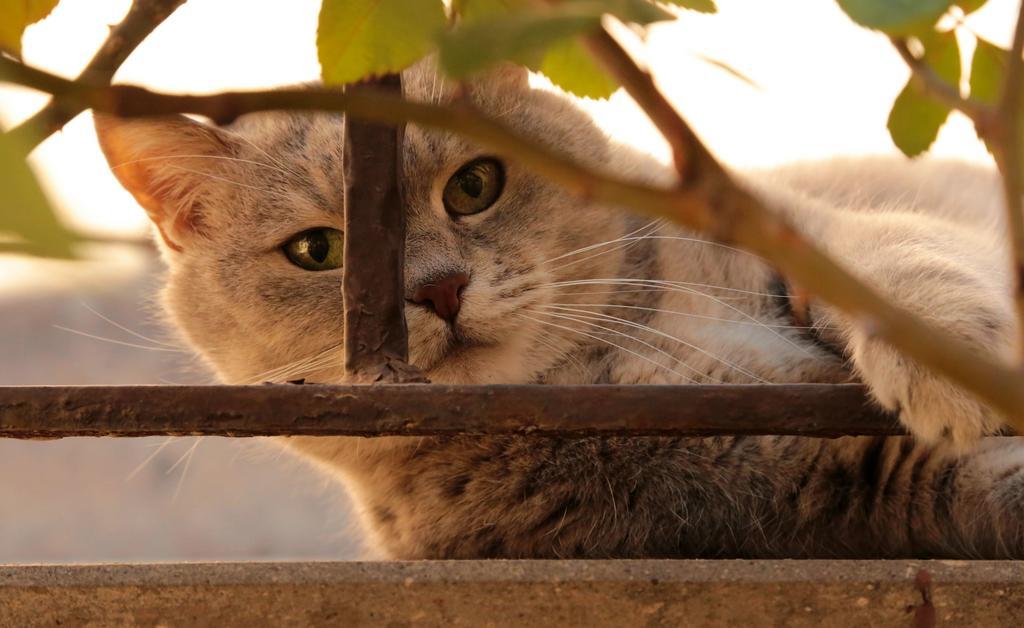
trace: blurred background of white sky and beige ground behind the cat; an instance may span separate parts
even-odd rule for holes
[[[62,0],[25,37],[27,62],[74,77],[129,0]],[[889,108],[907,72],[887,40],[821,0],[718,0],[650,30],[642,51],[666,93],[727,163],[762,166],[895,153]],[[1016,0],[967,27],[1009,46]],[[117,76],[213,92],[315,79],[315,0],[189,0]],[[965,54],[971,53],[971,46]],[[737,79],[706,58],[726,64]],[[45,102],[0,86],[0,124]],[[585,102],[609,133],[665,157],[629,98]],[[930,158],[987,162],[954,114]],[[88,115],[33,154],[47,195],[77,228],[123,244],[78,262],[0,255],[0,385],[211,383],[160,318],[162,265],[148,224],[110,175]],[[0,439],[0,562],[355,558],[340,489],[271,444],[226,438]]]

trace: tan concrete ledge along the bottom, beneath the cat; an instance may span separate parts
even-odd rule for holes
[[[8,566],[0,625],[1013,626],[1022,585],[1013,561]]]

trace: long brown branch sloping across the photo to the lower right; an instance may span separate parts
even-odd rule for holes
[[[851,317],[869,323],[878,337],[974,391],[1004,412],[1018,428],[1024,427],[1024,378],[1017,369],[978,354],[958,338],[889,303],[804,240],[777,212],[734,184],[724,172],[720,177],[686,189],[649,187],[581,166],[466,108],[413,102],[373,89],[175,95],[134,86],[68,81],[3,57],[0,57],[0,80],[47,91],[77,107],[123,117],[190,113],[227,122],[260,111],[334,111],[377,122],[412,122],[459,133],[515,159],[571,193],[601,204],[667,217],[765,257],[805,289]]]

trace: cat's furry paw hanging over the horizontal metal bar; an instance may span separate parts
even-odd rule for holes
[[[871,395],[887,410],[899,413],[900,422],[922,442],[947,441],[963,452],[1004,425],[976,397],[880,340],[855,338],[850,349]]]

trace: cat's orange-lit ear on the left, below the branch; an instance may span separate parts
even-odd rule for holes
[[[204,228],[204,189],[231,144],[216,129],[184,116],[116,118],[97,114],[96,134],[111,172],[157,225],[169,248],[182,251]],[[219,163],[218,163],[219,162]]]

